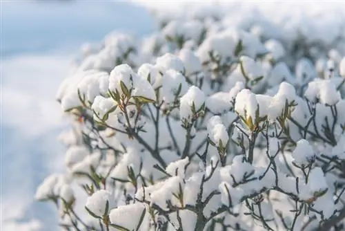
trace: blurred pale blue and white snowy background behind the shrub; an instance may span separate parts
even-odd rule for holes
[[[148,35],[157,30],[153,10],[188,14],[186,6],[224,5],[229,12],[246,15],[249,9],[259,10],[280,19],[308,17],[311,10],[335,15],[345,10],[344,1],[0,0],[0,4],[0,206],[5,231],[57,230],[55,208],[33,197],[43,178],[63,172],[64,149],[57,136],[68,124],[55,93],[84,42],[100,41],[114,30]]]

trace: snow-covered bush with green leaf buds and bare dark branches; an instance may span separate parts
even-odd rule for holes
[[[59,225],[344,230],[344,30],[160,22],[83,46],[59,88],[66,172],[36,194]]]

